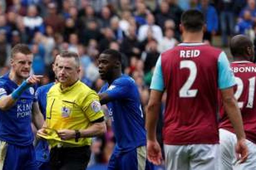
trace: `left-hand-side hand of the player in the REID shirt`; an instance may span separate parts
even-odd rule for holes
[[[157,141],[147,140],[147,158],[154,165],[160,165],[162,160],[161,147]]]

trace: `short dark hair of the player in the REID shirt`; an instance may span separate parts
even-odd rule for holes
[[[181,23],[188,32],[199,32],[204,25],[204,16],[198,10],[185,11],[181,16]]]

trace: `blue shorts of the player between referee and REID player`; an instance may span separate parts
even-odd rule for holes
[[[108,170],[153,170],[147,160],[146,147],[141,146],[128,152],[114,150],[109,160]]]

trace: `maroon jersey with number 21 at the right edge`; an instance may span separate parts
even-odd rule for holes
[[[238,100],[238,106],[241,109],[246,138],[256,143],[256,64],[247,61],[233,62],[231,68],[237,83],[234,86],[234,96]],[[233,126],[223,107],[221,107],[220,113],[221,123],[219,128],[234,133]]]

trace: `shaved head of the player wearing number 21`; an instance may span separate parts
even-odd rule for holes
[[[234,59],[243,58],[247,61],[254,61],[254,45],[249,37],[236,35],[230,41],[230,51]]]

